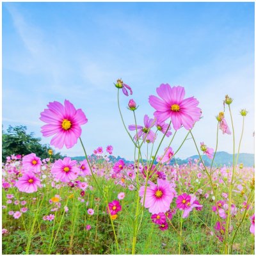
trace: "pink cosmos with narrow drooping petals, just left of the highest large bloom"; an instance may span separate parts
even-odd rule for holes
[[[156,133],[153,132],[152,126],[154,123],[154,119],[149,118],[148,115],[144,116],[144,127],[141,125],[137,125],[137,132],[138,132],[138,138],[137,134],[134,136],[134,140],[138,140],[139,138],[143,138],[143,140],[147,141],[148,143],[153,143],[156,140]],[[129,125],[130,131],[136,131],[136,125],[132,124]]]

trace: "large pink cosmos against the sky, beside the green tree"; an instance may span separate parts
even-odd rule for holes
[[[65,100],[64,106],[57,101],[50,102],[48,109],[41,113],[40,120],[47,123],[42,126],[42,134],[45,137],[54,135],[50,144],[56,148],[72,148],[81,136],[81,125],[88,122],[82,109],[74,108],[74,105]]]

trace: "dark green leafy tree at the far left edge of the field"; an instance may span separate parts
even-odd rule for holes
[[[49,145],[40,144],[41,139],[34,136],[34,132],[27,133],[27,127],[24,125],[15,127],[10,125],[7,131],[2,133],[2,161],[6,161],[6,157],[12,154],[25,156],[35,153],[41,159],[49,157],[48,151],[52,148]],[[52,159],[63,158],[60,153],[52,151]]]

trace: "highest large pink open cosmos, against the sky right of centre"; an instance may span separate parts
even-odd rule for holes
[[[194,97],[184,99],[185,90],[181,86],[161,84],[156,89],[159,98],[151,95],[148,99],[149,104],[156,109],[154,116],[158,122],[163,122],[171,118],[173,128],[177,131],[183,125],[189,130],[196,121],[200,119],[201,109],[198,108],[198,100]]]

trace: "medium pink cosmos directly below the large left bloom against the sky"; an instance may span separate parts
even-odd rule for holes
[[[51,169],[53,175],[62,182],[69,182],[77,178],[79,168],[76,167],[76,160],[65,157],[63,160],[56,161]]]

